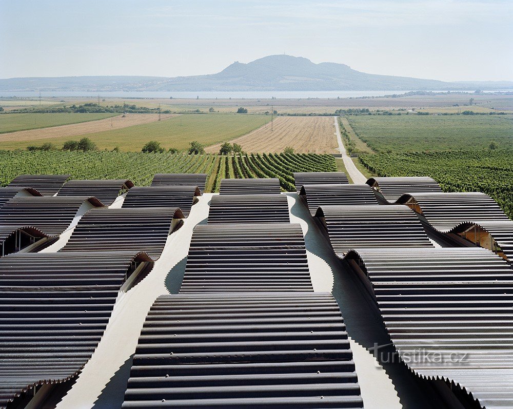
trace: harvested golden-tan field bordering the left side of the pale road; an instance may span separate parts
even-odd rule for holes
[[[242,150],[253,153],[282,152],[287,146],[297,153],[337,152],[337,138],[332,116],[278,116],[273,130],[266,124],[230,143],[238,143]],[[219,152],[221,144],[209,146],[210,153]]]

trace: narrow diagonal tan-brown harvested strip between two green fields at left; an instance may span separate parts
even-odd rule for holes
[[[13,117],[15,115],[24,114],[9,114]],[[74,115],[74,114],[54,114],[49,113],[48,115]],[[78,114],[88,115],[88,114]],[[171,118],[170,114],[162,114],[162,120]],[[76,137],[77,135],[84,135],[87,133],[110,131],[113,129],[127,128],[129,126],[148,124],[159,120],[158,114],[153,113],[128,113],[125,118],[123,115],[113,116],[112,118],[101,119],[96,121],[82,122],[78,124],[52,126],[43,129],[29,129],[25,131],[9,132],[0,134],[0,142],[4,149],[15,149],[24,147],[24,142],[37,141],[37,142],[48,142],[42,141],[45,139],[55,138],[68,138]],[[53,141],[52,141],[53,142]]]

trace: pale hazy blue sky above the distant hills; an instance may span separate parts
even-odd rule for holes
[[[0,78],[206,74],[284,52],[513,81],[513,0],[0,0]]]

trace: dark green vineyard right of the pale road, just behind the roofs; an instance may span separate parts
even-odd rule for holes
[[[481,191],[513,217],[513,151],[378,153],[360,161],[379,176],[430,176],[444,191]]]

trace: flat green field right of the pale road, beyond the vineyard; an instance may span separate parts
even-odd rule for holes
[[[358,137],[376,152],[488,149],[513,144],[513,115],[348,116]]]

